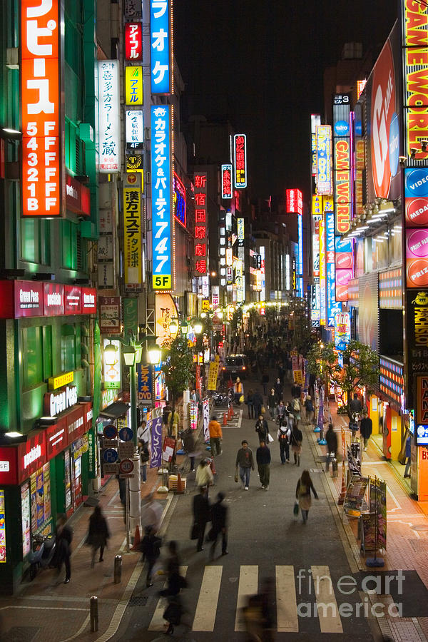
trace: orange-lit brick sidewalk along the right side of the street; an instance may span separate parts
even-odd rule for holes
[[[338,459],[341,462],[343,453],[340,429],[345,427],[347,444],[350,444],[351,433],[346,427],[345,419],[336,414],[335,404],[330,404],[330,410],[333,425],[337,430],[340,452]],[[305,432],[307,432],[307,437],[312,439],[313,448],[324,461],[327,447],[320,447],[317,444],[317,435],[312,432],[310,427],[306,427]],[[325,467],[324,463],[322,467]],[[379,571],[397,571],[398,569],[417,571],[424,586],[428,588],[428,517],[426,514],[428,502],[417,502],[412,499],[410,486],[407,480],[402,477],[404,466],[389,463],[384,459],[374,439],[370,439],[367,452],[362,452],[362,474],[371,477],[376,475],[387,482],[387,551],[382,555],[384,559],[382,569],[368,569],[365,564],[365,556],[360,554],[360,542],[357,542],[357,519],[348,519],[343,516],[342,506],[337,506],[357,566],[360,571],[369,571],[372,574],[377,574]],[[337,504],[337,498],[342,489],[342,463],[338,466],[337,478],[332,478],[331,472],[329,472],[325,475],[325,479],[332,489]],[[389,600],[392,599],[390,596],[388,597]],[[415,591],[416,611],[418,604],[420,606],[419,599],[420,593],[418,595],[418,592]],[[387,617],[381,618],[379,624],[384,635],[390,636],[391,639],[398,642],[428,639],[428,617]]]

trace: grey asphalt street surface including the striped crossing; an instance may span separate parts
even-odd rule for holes
[[[245,388],[249,386],[245,382]],[[189,539],[196,490],[193,477],[188,475],[187,493],[174,499],[165,541],[178,541],[188,588],[182,591],[186,608],[183,623],[187,626],[177,626],[173,638],[247,640],[240,608],[246,596],[260,591],[263,579],[272,578],[275,640],[372,640],[365,617],[367,596],[357,590],[350,578],[346,544],[342,544],[335,507],[330,506],[327,485],[322,481],[325,473],[312,455],[311,429],[301,425],[304,437],[299,468],[292,461],[280,463],[276,426],[274,422],[269,424],[275,442],[270,444],[272,464],[267,491],[260,488],[257,467],[251,474],[248,491],[234,481],[235,457],[242,439],[248,439],[254,456],[258,447],[255,421],[247,418],[247,407],[243,405],[233,422],[223,429],[223,454],[216,458],[218,475],[210,489],[210,499],[214,501],[218,491],[226,494],[230,516],[228,556],[220,556],[219,541],[218,557],[210,564],[210,544],[198,553],[195,541]],[[305,468],[311,471],[320,499],[312,499],[309,519],[302,524],[301,516],[295,520],[292,509],[297,479]],[[132,606],[126,609],[114,637],[116,641],[165,639],[165,603],[158,596],[165,578],[158,577],[151,588],[146,588],[145,579],[143,571],[131,598]]]

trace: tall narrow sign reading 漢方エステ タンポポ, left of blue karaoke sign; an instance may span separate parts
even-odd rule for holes
[[[143,283],[141,248],[141,176],[123,175],[123,263],[126,292],[138,292]]]

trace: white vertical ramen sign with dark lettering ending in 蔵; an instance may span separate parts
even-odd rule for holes
[[[119,118],[119,67],[117,60],[98,61],[98,123],[100,172],[121,170],[121,121]]]

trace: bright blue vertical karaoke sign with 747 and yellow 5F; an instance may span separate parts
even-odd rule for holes
[[[153,4],[156,3],[152,0]],[[166,3],[165,3],[166,4]],[[170,106],[151,106],[153,290],[172,287]]]

